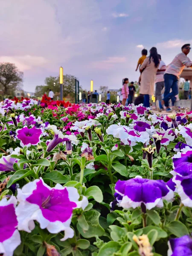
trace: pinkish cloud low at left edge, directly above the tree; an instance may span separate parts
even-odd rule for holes
[[[41,56],[0,56],[0,62],[14,63],[20,71],[30,70],[33,67],[41,67],[47,63],[47,60]]]

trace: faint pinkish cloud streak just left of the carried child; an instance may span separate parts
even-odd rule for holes
[[[106,60],[94,61],[91,65],[94,69],[110,70],[115,67],[116,64],[122,64],[126,62],[125,57],[108,57]]]

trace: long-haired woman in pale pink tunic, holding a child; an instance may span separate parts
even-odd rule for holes
[[[159,66],[159,57],[157,54],[157,48],[152,47],[150,49],[149,57],[145,58],[143,64],[140,67],[141,73],[141,84],[140,94],[144,94],[143,105],[149,108],[149,95],[154,93],[154,80]]]

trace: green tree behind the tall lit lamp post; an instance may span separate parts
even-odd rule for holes
[[[63,96],[70,96],[71,99],[75,98],[75,76],[65,75],[63,76]],[[48,94],[49,89],[51,89],[55,96],[59,96],[60,94],[60,84],[59,84],[59,76],[49,76],[45,79],[45,85],[38,85],[35,88],[35,96],[41,97],[44,93]],[[79,88],[79,90],[81,87]]]

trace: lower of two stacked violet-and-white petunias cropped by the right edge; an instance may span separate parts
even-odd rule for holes
[[[185,177],[176,175],[173,177],[173,182],[177,186],[177,192],[184,206],[192,207],[192,174]]]

